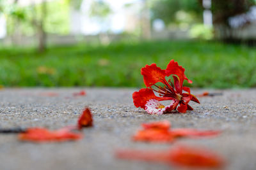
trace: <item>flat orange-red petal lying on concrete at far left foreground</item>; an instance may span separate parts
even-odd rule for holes
[[[58,131],[49,131],[44,128],[29,128],[26,132],[19,134],[22,141],[31,142],[51,142],[51,141],[70,141],[81,139],[82,134],[74,133],[68,129],[60,129]]]

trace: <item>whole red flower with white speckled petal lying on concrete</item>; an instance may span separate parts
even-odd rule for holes
[[[190,94],[189,87],[183,87],[184,80],[188,80],[184,74],[185,69],[179,66],[177,62],[171,60],[166,69],[157,67],[156,64],[146,65],[141,69],[144,83],[147,89],[141,89],[132,94],[134,106],[143,108],[149,114],[162,115],[163,113],[177,110],[180,113],[186,113],[187,110],[193,110],[189,106],[189,101],[200,103],[195,96]],[[172,75],[173,83],[166,80],[166,77]],[[163,83],[163,87],[156,85],[156,83]],[[153,89],[156,87],[157,89]],[[155,95],[158,94],[157,96]],[[171,101],[168,106],[164,106],[159,101]]]

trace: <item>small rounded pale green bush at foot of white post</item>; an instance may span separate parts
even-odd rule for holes
[[[191,38],[197,38],[197,39],[212,39],[213,34],[213,28],[204,24],[195,24],[191,27],[189,30],[189,35]]]

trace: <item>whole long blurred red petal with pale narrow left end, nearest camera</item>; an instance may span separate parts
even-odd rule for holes
[[[116,157],[118,159],[163,162],[188,168],[220,168],[225,164],[225,160],[211,150],[189,146],[174,146],[170,150],[162,152],[123,149],[117,150]]]

